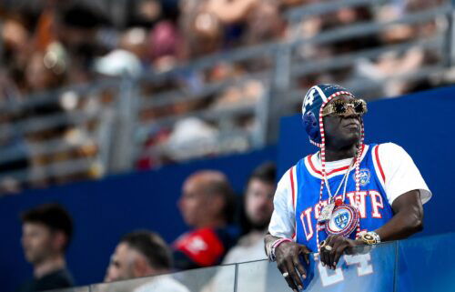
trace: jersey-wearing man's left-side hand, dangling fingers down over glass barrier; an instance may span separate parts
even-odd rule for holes
[[[283,242],[275,249],[278,269],[285,277],[286,282],[288,282],[288,286],[294,291],[303,288],[300,276],[303,278],[307,277],[307,271],[298,260],[298,256],[302,255],[309,265],[310,253],[307,247],[298,245],[295,242]]]

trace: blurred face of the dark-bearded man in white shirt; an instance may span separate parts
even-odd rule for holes
[[[248,220],[254,227],[265,228],[273,212],[275,185],[253,178],[248,183],[246,211]]]

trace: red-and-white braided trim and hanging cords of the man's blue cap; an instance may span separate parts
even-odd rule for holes
[[[321,164],[321,172],[322,172],[322,179],[320,181],[320,190],[319,190],[319,202],[318,202],[318,208],[320,210],[321,207],[321,202],[322,202],[322,193],[324,191],[324,185],[325,185],[325,180],[326,180],[326,137],[325,137],[325,131],[324,131],[324,119],[322,116],[322,110],[324,109],[324,106],[326,106],[330,100],[337,96],[351,96],[352,98],[355,98],[350,92],[348,91],[339,91],[337,93],[334,93],[333,95],[329,96],[325,102],[322,103],[322,105],[319,108],[319,131],[320,131],[320,144],[312,141],[311,139],[309,142],[313,144],[314,146],[318,146],[320,148],[320,164]],[[363,152],[363,140],[364,140],[364,127],[363,127],[363,119],[360,117],[360,143],[357,148],[357,156],[356,156],[356,161],[355,161],[355,167],[356,167],[356,172],[355,172],[355,178],[356,178],[356,208],[359,211],[359,204],[360,204],[360,177],[359,177],[359,167],[360,167],[360,157]],[[348,178],[346,180],[346,184],[348,184]],[[327,186],[329,187],[329,186]],[[360,213],[360,212],[359,212]],[[322,230],[323,228],[321,227],[321,223],[317,222],[316,223],[316,245],[318,248],[318,253],[320,252],[320,247],[319,247],[319,230]],[[360,232],[360,219],[357,224],[357,230],[356,230],[356,237],[359,235]]]

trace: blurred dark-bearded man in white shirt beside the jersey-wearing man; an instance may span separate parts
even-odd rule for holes
[[[244,197],[245,223],[244,231],[247,233],[240,237],[238,244],[229,250],[222,264],[260,260],[267,257],[264,251],[264,237],[267,233],[268,223],[273,212],[273,196],[276,189],[277,169],[273,163],[264,163],[258,166],[249,177],[247,192]],[[249,278],[251,282],[244,281],[242,287],[247,290],[265,291],[265,269],[253,269]],[[228,269],[220,269],[213,280],[203,289],[203,292],[224,291],[231,287],[234,279]],[[250,284],[251,289],[246,285]]]

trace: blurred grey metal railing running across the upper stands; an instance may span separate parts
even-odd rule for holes
[[[279,116],[287,115],[298,107],[307,89],[298,85],[301,78],[344,68],[355,71],[364,61],[374,65],[379,55],[403,55],[417,49],[430,51],[435,55],[435,61],[422,64],[411,72],[377,76],[374,80],[361,74],[351,74],[344,80],[329,81],[338,82],[370,99],[384,94],[384,91],[371,89],[400,81],[438,79],[443,76],[455,61],[454,10],[450,2],[407,13],[387,22],[353,23],[321,30],[309,37],[303,37],[298,28],[302,21],[310,17],[324,17],[342,7],[368,6],[378,9],[387,3],[390,1],[345,0],[293,8],[284,13],[290,34],[276,42],[207,55],[188,64],[177,65],[167,72],[144,72],[136,78],[124,76],[97,81],[87,86],[71,86],[52,93],[29,96],[26,102],[0,104],[2,112],[14,116],[14,122],[0,124],[0,146],[2,141],[11,144],[0,150],[0,166],[20,159],[28,160],[30,165],[9,173],[4,171],[0,177],[14,177],[26,184],[37,181],[39,185],[40,181],[49,179],[58,182],[61,176],[85,173],[83,176],[97,177],[106,172],[129,171],[141,157],[155,159],[169,156],[169,152],[187,152],[187,155],[171,157],[178,161],[182,157],[187,159],[265,146],[276,139]],[[318,57],[299,54],[300,50],[308,47],[318,50],[346,39],[377,36],[394,25],[416,26],[429,22],[436,24],[432,35],[415,36],[398,44]],[[153,89],[151,92],[144,89],[169,81],[176,83],[182,76],[197,76],[219,64],[239,64],[253,60],[268,65],[259,71],[227,80],[202,80],[196,89],[188,85],[171,86],[161,91]],[[229,106],[189,106],[190,111],[167,110],[179,104],[213,105],[214,99],[227,90],[248,85],[248,82],[260,88],[258,96],[253,96],[252,101],[239,98],[237,103]],[[69,101],[65,101],[65,98]],[[67,108],[66,105],[65,109],[65,103],[72,106]],[[57,105],[58,110],[41,114],[40,108],[49,105]],[[216,129],[212,134],[213,139],[200,143],[190,139],[181,146],[168,143],[147,146],[150,132],[162,129],[172,132],[178,123],[188,118],[197,118],[204,125]],[[239,125],[238,121],[242,119],[248,120],[249,127]],[[11,143],[13,140],[18,146]],[[161,163],[164,162],[156,165]]]

